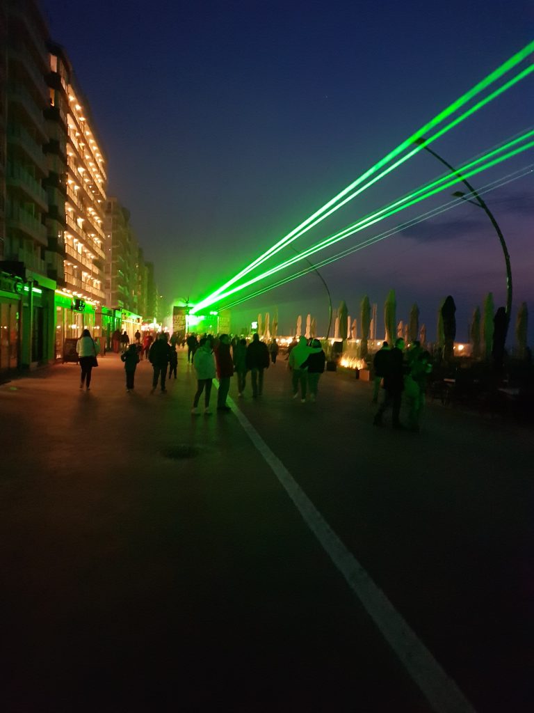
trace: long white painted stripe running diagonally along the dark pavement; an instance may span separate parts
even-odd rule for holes
[[[218,382],[214,381],[219,387]],[[286,489],[305,523],[323,545],[330,559],[347,580],[348,585],[360,599],[365,610],[402,661],[434,711],[436,713],[475,713],[475,709],[454,680],[441,668],[387,596],[377,587],[355,556],[347,550],[323,515],[296,483],[282,461],[263,441],[263,438],[236,406],[233,399],[228,398],[227,403],[243,426],[248,438],[251,439],[265,461],[271,466],[278,481]]]

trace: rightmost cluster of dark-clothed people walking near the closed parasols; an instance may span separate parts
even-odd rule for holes
[[[402,337],[395,340],[393,349],[387,342],[375,354],[375,386],[373,403],[378,403],[380,385],[384,386],[384,398],[379,405],[373,423],[382,426],[382,416],[392,409],[392,425],[394,429],[404,429],[400,421],[402,394],[404,392],[409,405],[408,428],[419,431],[419,421],[426,394],[426,384],[432,371],[431,356],[422,349],[419,342],[414,342],[404,354],[406,344]]]

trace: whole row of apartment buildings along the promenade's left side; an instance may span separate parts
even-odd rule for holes
[[[154,319],[153,270],[129,217],[117,252],[125,283],[106,295],[106,182],[103,149],[65,50],[50,40],[36,0],[2,0],[0,376],[62,359],[66,340],[84,327],[103,347],[115,329],[133,333],[142,317]]]

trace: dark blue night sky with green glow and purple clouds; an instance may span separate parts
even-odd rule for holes
[[[108,195],[130,209],[169,305],[205,297],[534,37],[533,5],[515,0],[41,6],[89,100],[108,158]],[[531,75],[432,148],[465,162],[534,124],[533,97]],[[481,187],[532,162],[530,150],[472,182]],[[423,152],[293,245],[307,247],[443,170]],[[484,196],[511,254],[513,319],[527,301],[531,335],[533,177]],[[364,294],[381,314],[393,287],[397,319],[417,302],[431,338],[446,294],[458,307],[459,339],[488,291],[505,302],[496,234],[468,204],[322,272],[334,307],[345,299],[353,317]],[[307,312],[326,329],[325,293],[313,274],[244,302],[234,327],[275,305],[283,333]]]

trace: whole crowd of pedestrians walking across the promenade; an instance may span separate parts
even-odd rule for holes
[[[199,401],[204,394],[204,413],[211,414],[209,402],[213,379],[219,379],[216,409],[219,412],[231,411],[226,403],[231,379],[235,375],[238,396],[244,396],[247,374],[251,375],[252,398],[263,395],[264,372],[271,365],[276,365],[279,345],[276,339],[269,344],[261,341],[258,334],[253,334],[247,344],[244,338],[230,339],[228,334],[219,337],[204,335],[199,341],[196,334],[188,334],[178,339],[167,332],[159,332],[156,337],[138,330],[135,341],[130,343],[127,332],[116,330],[112,334],[112,348],[120,352],[125,364],[126,391],[135,388],[135,371],[143,357],[152,365],[153,394],[159,386],[162,394],[167,393],[167,378],[177,378],[177,347],[187,347],[187,363],[192,364],[197,376],[197,391],[194,394],[192,413],[199,414]],[[98,366],[97,355],[100,352],[98,341],[93,340],[88,329],[84,329],[76,344],[80,364],[80,389],[90,389],[92,370]],[[318,339],[300,337],[293,339],[287,349],[287,363],[293,399],[315,402],[318,398],[320,376],[325,371],[326,356]],[[419,431],[419,422],[424,406],[426,383],[431,373],[431,356],[422,349],[419,342],[414,342],[406,350],[404,339],[399,337],[390,348],[387,342],[376,352],[373,358],[372,403],[378,405],[373,423],[382,426],[384,414],[391,411],[394,429],[408,427]],[[168,371],[168,374],[167,374]],[[381,388],[382,387],[382,388]],[[380,398],[380,394],[382,398]],[[402,399],[407,404],[407,426],[400,420]]]

